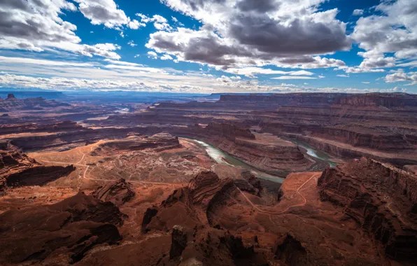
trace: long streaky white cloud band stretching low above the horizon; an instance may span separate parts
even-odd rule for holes
[[[36,60],[44,60],[36,62]],[[69,65],[71,64],[71,65]],[[65,66],[65,67],[57,67]],[[70,67],[67,67],[70,66]],[[22,75],[20,73],[27,73]],[[130,90],[164,92],[404,92],[405,89],[305,87],[265,85],[240,76],[216,77],[196,71],[157,69],[132,62],[105,59],[101,62],[62,62],[45,59],[0,57],[0,86],[36,87],[47,90]],[[410,73],[409,73],[410,74]],[[30,75],[30,76],[29,76]],[[92,78],[94,77],[94,78]],[[294,76],[288,76],[294,78]],[[305,76],[303,78],[311,78]]]

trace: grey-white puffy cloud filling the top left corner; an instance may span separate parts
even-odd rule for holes
[[[92,57],[99,55],[119,59],[110,43],[83,45],[76,36],[76,25],[60,18],[63,10],[76,11],[65,0],[0,1],[0,48],[32,50],[66,50]]]

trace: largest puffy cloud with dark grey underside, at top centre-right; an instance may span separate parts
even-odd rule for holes
[[[322,67],[317,55],[351,47],[346,25],[336,19],[338,10],[319,10],[324,0],[162,2],[203,24],[197,30],[179,27],[150,35],[146,47],[180,61],[222,69],[267,64],[316,68]],[[333,65],[344,65],[334,61]]]

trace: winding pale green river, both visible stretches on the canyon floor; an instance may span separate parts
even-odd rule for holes
[[[206,142],[199,141],[197,139],[192,139],[192,140],[196,141],[199,145],[204,147],[206,149],[206,152],[208,153],[208,155],[213,160],[218,162],[219,164],[232,165],[234,167],[243,167],[245,169],[250,170],[257,178],[265,179],[265,180],[272,181],[272,182],[275,182],[275,183],[283,183],[283,181],[285,180],[282,177],[272,176],[271,174],[267,174],[267,173],[262,172],[258,169],[255,169],[254,167],[251,167],[250,165],[246,164],[245,162],[242,162],[241,160],[237,160],[236,158],[230,156],[228,153],[225,153],[225,152],[221,151],[220,149],[215,148],[215,146],[213,146],[211,144],[206,144]],[[296,144],[296,145],[298,145],[302,148],[305,148],[307,150],[308,155],[310,155],[313,158],[317,158],[318,160],[323,160],[323,161],[329,163],[329,165],[331,167],[334,167],[334,166],[337,165],[336,162],[332,162],[330,160],[331,157],[329,155],[327,155],[327,153],[323,153],[322,151],[317,151],[313,147],[309,146],[309,144],[306,144],[302,141],[295,141],[295,140],[292,140],[292,143],[294,143],[294,144]]]

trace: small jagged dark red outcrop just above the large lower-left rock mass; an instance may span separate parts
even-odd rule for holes
[[[100,186],[92,193],[92,196],[103,201],[111,202],[120,207],[135,196],[132,184],[120,179],[114,183],[108,183],[106,186]]]

